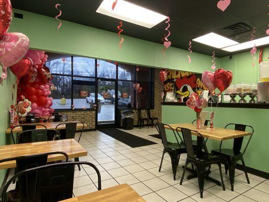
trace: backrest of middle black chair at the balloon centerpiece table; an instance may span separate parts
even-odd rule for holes
[[[205,141],[204,141],[204,137],[202,136],[202,134],[198,133],[197,131],[194,131],[194,130],[190,130],[188,128],[180,128],[178,127],[177,128],[177,131],[181,130],[181,133],[182,133],[182,136],[183,136],[183,139],[184,139],[184,143],[185,143],[185,147],[186,147],[186,150],[187,150],[187,155],[190,157],[190,158],[199,158],[198,156],[194,156],[194,150],[193,150],[193,144],[192,144],[192,133],[196,133],[197,136],[200,136],[202,138],[202,144],[204,145],[204,150],[206,152],[206,155],[207,155],[207,158],[209,159],[210,156],[208,154],[208,150],[207,150],[207,147],[206,147],[206,144],[205,144]]]

